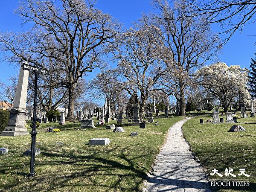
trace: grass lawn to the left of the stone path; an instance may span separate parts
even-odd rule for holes
[[[8,154],[0,156],[0,191],[141,191],[166,132],[181,119],[154,118],[159,123],[149,123],[145,129],[111,121],[86,131],[74,131],[81,123],[43,123],[36,137],[41,154],[35,157],[36,175],[30,178],[30,157],[24,157],[23,152],[31,147],[31,135],[0,137],[0,148],[8,148]],[[125,132],[106,130],[112,123]],[[61,132],[46,133],[49,126]],[[135,131],[139,135],[130,137]],[[92,138],[105,137],[111,140],[109,145],[88,145]]]

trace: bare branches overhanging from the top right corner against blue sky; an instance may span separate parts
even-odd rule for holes
[[[252,0],[186,0],[195,15],[204,15],[212,23],[220,23],[220,34],[228,41],[236,30],[242,31],[249,20],[255,22],[256,1]],[[225,42],[226,42],[225,41]]]

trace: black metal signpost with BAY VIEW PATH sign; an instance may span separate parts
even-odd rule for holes
[[[38,134],[38,132],[36,132],[35,128],[36,128],[36,97],[37,97],[37,80],[38,80],[38,73],[41,74],[48,74],[48,71],[42,68],[38,67],[38,64],[36,63],[35,66],[32,65],[28,65],[23,63],[21,65],[21,67],[23,68],[23,70],[29,70],[31,72],[35,73],[35,94],[34,94],[34,113],[33,113],[33,128],[31,131],[31,155],[30,155],[30,173],[28,175],[28,177],[33,177],[35,175],[35,137],[36,134]]]

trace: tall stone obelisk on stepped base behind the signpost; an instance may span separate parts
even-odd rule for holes
[[[25,62],[28,64],[27,62]],[[13,108],[10,111],[8,126],[1,132],[1,136],[28,135],[25,128],[26,120],[26,96],[28,91],[29,71],[20,67],[17,89],[15,92]]]

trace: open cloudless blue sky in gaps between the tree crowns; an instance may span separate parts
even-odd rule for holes
[[[21,18],[13,13],[17,8],[18,0],[2,0],[0,4],[0,32],[5,31],[27,31],[28,29],[20,26]],[[141,17],[141,13],[152,11],[150,0],[98,0],[96,4],[98,9],[105,13],[113,15],[129,28],[132,22],[136,22]],[[218,28],[216,28],[218,29]],[[255,26],[247,24],[242,33],[237,31],[222,49],[222,55],[219,55],[219,61],[228,66],[239,64],[242,68],[250,66],[250,58],[254,58],[256,52]],[[0,57],[3,53],[0,52]],[[6,62],[0,63],[0,81],[6,82],[10,76],[17,75],[19,67],[13,67]]]

